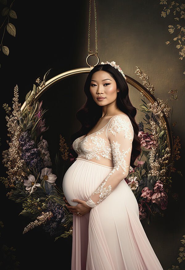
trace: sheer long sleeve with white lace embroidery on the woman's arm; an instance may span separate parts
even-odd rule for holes
[[[125,115],[113,117],[107,127],[106,136],[110,141],[114,167],[86,201],[90,207],[95,207],[103,201],[129,173],[134,138],[130,118]]]

